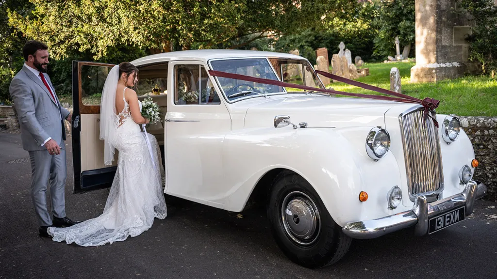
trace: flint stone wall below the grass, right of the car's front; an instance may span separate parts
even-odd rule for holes
[[[474,179],[489,190],[484,200],[497,201],[497,117],[458,116],[475,149],[479,166]]]

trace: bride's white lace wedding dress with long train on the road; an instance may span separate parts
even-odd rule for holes
[[[103,213],[71,227],[49,227],[48,233],[54,241],[74,242],[81,246],[112,244],[141,234],[152,226],[155,217],[164,219],[167,215],[162,188],[165,171],[157,139],[147,134],[151,145],[155,146],[155,169],[146,134],[133,121],[125,99],[123,111],[114,116],[116,130],[113,144],[119,156]]]

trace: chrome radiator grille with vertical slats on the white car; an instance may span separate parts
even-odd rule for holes
[[[428,117],[423,121],[423,110],[417,109],[402,115],[399,121],[410,194],[438,190],[443,186],[443,170],[438,133],[433,120]]]

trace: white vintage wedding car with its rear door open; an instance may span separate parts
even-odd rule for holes
[[[162,148],[164,192],[235,212],[249,199],[263,203],[278,246],[299,265],[335,263],[353,238],[408,227],[431,234],[464,220],[486,194],[472,180],[478,161],[456,117],[431,112],[436,128],[421,105],[322,93],[303,57],[194,50],[132,64],[140,70],[139,98],[151,96],[163,112],[163,123],[147,130]],[[103,163],[98,105],[112,66],[73,63],[75,193],[113,179],[115,166]]]

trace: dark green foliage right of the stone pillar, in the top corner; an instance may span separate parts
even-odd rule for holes
[[[497,6],[494,0],[461,0],[463,12],[473,21],[470,59],[482,63],[484,73],[497,77]]]

